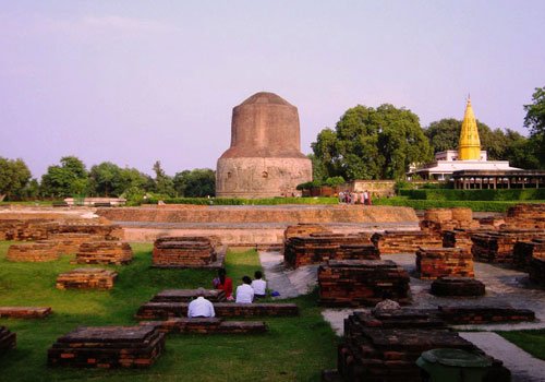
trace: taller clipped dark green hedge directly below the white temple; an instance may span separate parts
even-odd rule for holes
[[[399,190],[401,196],[427,201],[537,201],[545,200],[545,189],[453,190],[420,189]]]

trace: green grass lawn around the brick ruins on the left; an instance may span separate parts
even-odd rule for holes
[[[59,273],[80,267],[70,256],[48,263],[5,260],[10,242],[0,241],[0,306],[48,306],[45,320],[0,319],[17,334],[17,347],[0,357],[0,381],[319,381],[334,368],[339,338],[322,319],[311,294],[296,299],[298,318],[266,318],[263,335],[169,335],[167,349],[149,369],[48,368],[47,349],[80,325],[132,325],[145,301],[166,288],[210,287],[213,271],[153,270],[150,244],[133,244],[130,265],[107,266],[119,273],[111,291],[58,290]],[[227,271],[239,284],[261,268],[257,253],[229,252]]]

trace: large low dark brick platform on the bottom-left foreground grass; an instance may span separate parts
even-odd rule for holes
[[[48,366],[148,368],[165,350],[165,333],[154,326],[78,327],[47,351]]]

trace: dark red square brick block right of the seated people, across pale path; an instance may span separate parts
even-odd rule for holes
[[[409,274],[386,260],[331,260],[318,268],[319,303],[332,307],[375,306],[385,293],[409,303]]]

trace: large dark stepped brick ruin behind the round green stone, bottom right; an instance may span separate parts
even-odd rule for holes
[[[456,332],[445,329],[435,312],[400,309],[375,314],[354,312],[344,320],[338,346],[337,370],[323,372],[323,381],[420,382],[415,361],[423,351],[456,348],[487,357],[486,380],[510,381],[501,361],[488,357]]]

